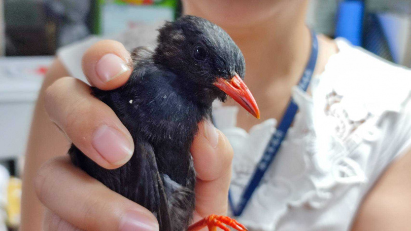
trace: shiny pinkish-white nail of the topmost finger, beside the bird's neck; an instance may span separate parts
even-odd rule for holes
[[[125,61],[114,54],[104,55],[95,66],[98,78],[104,83],[117,78],[129,69]]]

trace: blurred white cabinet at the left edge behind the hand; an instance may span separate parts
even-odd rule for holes
[[[24,155],[37,95],[52,60],[0,58],[0,160]]]

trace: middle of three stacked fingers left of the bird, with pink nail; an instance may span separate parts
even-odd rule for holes
[[[50,119],[98,165],[113,169],[130,159],[130,133],[85,83],[70,77],[57,80],[46,90],[45,107]]]

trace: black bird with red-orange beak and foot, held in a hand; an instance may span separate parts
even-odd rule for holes
[[[130,131],[135,143],[130,161],[108,170],[73,144],[68,152],[72,162],[153,212],[160,230],[215,229],[222,223],[246,230],[235,220],[216,215],[189,227],[195,203],[190,146],[197,124],[211,121],[212,102],[224,101],[227,94],[259,118],[243,82],[243,54],[223,29],[194,16],[165,23],[157,42],[154,51],[139,47],[132,52],[133,72],[123,87],[92,88]]]

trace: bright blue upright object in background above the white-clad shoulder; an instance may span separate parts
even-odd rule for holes
[[[355,46],[361,46],[363,1],[344,1],[338,4],[335,37],[344,37]]]

